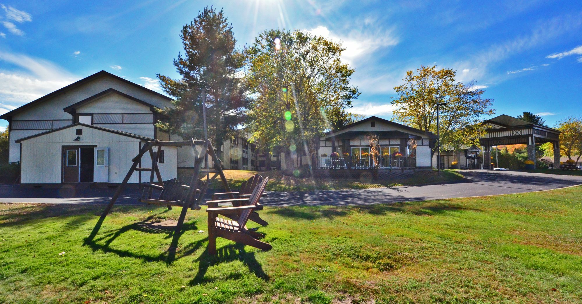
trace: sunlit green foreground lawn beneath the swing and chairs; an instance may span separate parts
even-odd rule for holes
[[[83,245],[102,208],[0,204],[0,303],[582,302],[582,187],[266,207],[273,249],[219,239],[217,257],[190,211],[174,259],[148,223],[180,208],[115,207]]]

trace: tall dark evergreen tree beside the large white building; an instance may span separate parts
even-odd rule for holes
[[[223,10],[212,7],[186,24],[180,38],[184,54],[179,53],[173,63],[182,78],[158,74],[164,91],[176,98],[175,107],[164,111],[169,120],[158,126],[183,137],[203,138],[201,92],[205,89],[208,137],[220,146],[245,118],[244,54],[236,48]]]

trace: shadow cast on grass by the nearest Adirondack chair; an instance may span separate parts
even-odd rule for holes
[[[235,260],[240,260],[258,278],[261,278],[264,281],[269,280],[268,274],[262,270],[261,264],[255,258],[255,252],[246,252],[244,250],[244,244],[235,243],[217,248],[216,255],[208,254],[208,248],[204,250],[202,255],[194,260],[198,262],[198,273],[190,281],[189,285],[198,285],[215,281],[214,279],[206,276],[208,268],[219,263],[228,263]],[[232,273],[229,274],[229,277],[221,278],[221,280],[236,280],[240,278],[240,276],[242,276],[240,273]]]

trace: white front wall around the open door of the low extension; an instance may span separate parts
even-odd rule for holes
[[[109,147],[109,182],[120,183],[132,166],[132,158],[139,150],[139,139],[105,132],[93,128],[82,128],[79,142],[75,130],[68,128],[24,140],[22,155],[22,183],[61,183],[62,146],[97,145]],[[144,157],[145,159],[145,157]],[[134,174],[131,183],[137,183]]]

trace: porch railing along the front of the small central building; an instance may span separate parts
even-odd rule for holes
[[[416,157],[411,156],[318,156],[317,169],[400,169],[415,168]]]

